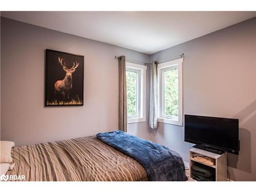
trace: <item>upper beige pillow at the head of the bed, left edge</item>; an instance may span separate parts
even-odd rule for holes
[[[0,150],[1,150],[0,163],[11,163],[12,162],[12,156],[11,156],[12,147],[14,147],[14,142],[0,141]]]

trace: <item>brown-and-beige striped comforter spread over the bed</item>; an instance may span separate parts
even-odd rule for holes
[[[145,169],[95,136],[14,147],[7,175],[26,181],[140,181]]]

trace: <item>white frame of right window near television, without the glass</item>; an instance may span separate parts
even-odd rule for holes
[[[159,63],[158,71],[158,122],[183,125],[183,94],[182,94],[182,63],[183,58]],[[178,118],[177,116],[164,116],[164,84],[163,73],[167,70],[178,69]]]

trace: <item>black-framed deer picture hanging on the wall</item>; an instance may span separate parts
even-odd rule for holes
[[[83,105],[84,56],[46,50],[45,106]]]

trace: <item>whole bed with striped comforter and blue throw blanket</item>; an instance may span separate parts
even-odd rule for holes
[[[11,181],[187,180],[177,152],[119,130],[10,150]]]

